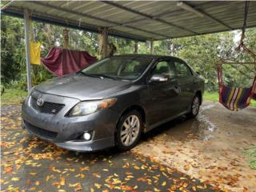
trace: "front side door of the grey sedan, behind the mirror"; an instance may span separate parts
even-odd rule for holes
[[[170,59],[160,60],[156,63],[148,79],[154,74],[166,74],[169,77],[167,82],[148,81],[148,97],[150,101],[149,122],[159,122],[171,117],[178,110],[178,87],[175,78],[174,68]]]

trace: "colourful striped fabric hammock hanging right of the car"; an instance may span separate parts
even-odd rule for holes
[[[228,87],[222,81],[222,65],[218,64],[219,102],[229,110],[242,110],[250,105],[256,90],[256,77],[250,88]]]

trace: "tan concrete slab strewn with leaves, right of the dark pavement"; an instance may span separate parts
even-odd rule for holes
[[[226,191],[256,191],[244,153],[256,144],[256,108],[232,112],[203,102],[196,119],[178,118],[144,136],[134,152]]]

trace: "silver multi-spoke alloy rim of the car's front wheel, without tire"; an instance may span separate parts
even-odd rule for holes
[[[131,146],[138,138],[140,122],[136,115],[130,115],[122,124],[121,142],[124,146]]]

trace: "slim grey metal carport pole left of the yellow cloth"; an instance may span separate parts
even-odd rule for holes
[[[29,30],[29,14],[28,10],[24,9],[24,29],[26,42],[26,83],[27,91],[30,93],[32,88],[31,68],[30,68],[30,30]]]

